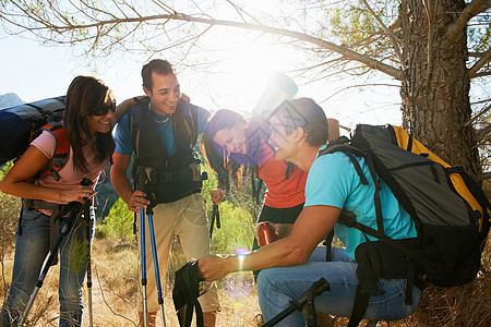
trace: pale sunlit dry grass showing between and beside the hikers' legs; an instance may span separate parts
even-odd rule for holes
[[[140,280],[137,278],[137,250],[135,244],[119,243],[115,240],[95,239],[93,246],[93,320],[94,326],[137,326],[136,295]],[[7,280],[11,280],[13,253],[7,255]],[[181,258],[175,254],[175,262]],[[176,257],[177,256],[177,257]],[[169,266],[172,269],[171,266]],[[57,326],[59,266],[50,268],[29,314],[27,326]],[[168,274],[169,276],[171,274]],[[237,276],[235,276],[237,278]],[[242,274],[240,278],[252,280],[252,274]],[[167,280],[165,292],[165,314],[167,326],[179,326],[171,300],[171,283]],[[254,317],[260,313],[255,288],[251,287],[243,296],[229,296],[220,290],[221,312],[217,316],[217,326],[255,326]],[[237,295],[237,294],[235,294]],[[1,304],[1,303],[0,303]],[[87,289],[84,287],[83,326],[88,326]],[[160,314],[157,316],[157,326]],[[230,322],[233,322],[230,324]]]

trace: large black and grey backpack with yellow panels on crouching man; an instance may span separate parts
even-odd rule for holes
[[[375,190],[378,229],[343,213],[338,223],[357,228],[379,241],[360,244],[355,256],[359,286],[350,325],[357,326],[370,295],[380,294],[376,280],[407,278],[406,303],[410,304],[415,277],[435,286],[459,286],[472,281],[480,268],[488,239],[491,205],[479,185],[458,166],[450,166],[400,128],[357,125],[351,140],[340,137],[319,156],[343,152],[362,184],[371,178]],[[354,156],[363,157],[366,177]],[[382,179],[415,221],[416,239],[392,240],[385,235],[379,185]]]

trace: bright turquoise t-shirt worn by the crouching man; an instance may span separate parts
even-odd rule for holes
[[[345,209],[354,213],[357,221],[376,229],[373,181],[364,159],[357,160],[369,185],[361,184],[352,162],[345,154],[334,153],[316,158],[307,178],[304,206],[324,205]],[[385,234],[392,239],[416,238],[415,222],[384,182],[380,195]],[[355,259],[355,250],[366,242],[363,233],[339,223],[334,226],[334,233],[346,245],[347,255]],[[372,237],[369,239],[376,240]]]

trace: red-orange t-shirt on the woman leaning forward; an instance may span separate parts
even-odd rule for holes
[[[275,160],[274,155],[274,150],[263,141],[259,175],[267,187],[264,204],[273,208],[290,208],[304,203],[307,172],[294,166],[287,180],[288,166],[283,160]]]

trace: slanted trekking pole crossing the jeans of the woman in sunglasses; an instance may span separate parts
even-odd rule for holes
[[[33,293],[31,294],[31,298],[27,302],[27,305],[24,310],[24,313],[22,314],[21,320],[19,322],[17,326],[21,327],[24,325],[25,319],[27,318],[27,315],[31,311],[31,307],[33,306],[34,300],[37,296],[37,293],[39,292],[39,289],[43,287],[43,283],[45,281],[46,275],[48,274],[49,267],[51,266],[52,261],[57,256],[58,247],[60,247],[61,240],[67,235],[69,230],[71,229],[72,221],[77,216],[80,208],[82,207],[82,204],[80,202],[71,202],[69,203],[63,210],[61,210],[58,214],[58,217],[63,217],[67,213],[70,213],[68,218],[65,219],[63,227],[60,231],[60,235],[58,237],[57,242],[55,243],[55,246],[51,249],[51,252],[49,254],[48,259],[45,262],[45,265],[43,267],[43,270],[39,275],[39,279],[36,282],[36,287],[34,288]]]

